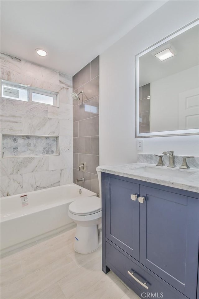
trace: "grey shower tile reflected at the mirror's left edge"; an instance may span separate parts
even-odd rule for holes
[[[150,83],[140,87],[139,99],[139,129],[140,133],[150,132]]]

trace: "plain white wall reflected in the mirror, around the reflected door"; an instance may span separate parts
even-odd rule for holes
[[[198,88],[198,85],[198,65],[151,82],[150,132],[180,130],[178,125],[179,93]]]

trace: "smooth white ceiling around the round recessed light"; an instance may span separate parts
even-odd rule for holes
[[[2,0],[1,52],[74,75],[165,2]]]

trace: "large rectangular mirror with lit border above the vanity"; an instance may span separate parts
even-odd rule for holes
[[[199,133],[199,20],[136,55],[136,137]]]

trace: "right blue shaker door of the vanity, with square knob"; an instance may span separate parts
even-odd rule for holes
[[[199,201],[140,186],[140,262],[188,298],[196,298]]]

